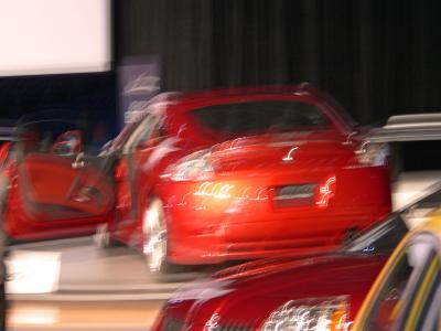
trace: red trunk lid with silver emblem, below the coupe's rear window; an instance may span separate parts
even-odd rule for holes
[[[353,147],[333,134],[286,134],[228,140],[211,150],[217,172],[259,169],[344,167],[355,157]]]

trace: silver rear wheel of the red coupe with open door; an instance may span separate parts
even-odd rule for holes
[[[142,232],[143,253],[149,271],[157,275],[179,271],[179,266],[168,261],[168,229],[161,200],[154,199],[146,207]]]

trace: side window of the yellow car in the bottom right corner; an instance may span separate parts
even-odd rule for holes
[[[405,320],[433,256],[433,249],[424,241],[405,246],[374,299],[366,330],[392,330]]]

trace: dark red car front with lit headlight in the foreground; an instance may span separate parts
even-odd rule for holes
[[[166,302],[153,330],[349,330],[411,216],[439,205],[440,193],[438,185],[335,253],[260,259],[189,284]]]

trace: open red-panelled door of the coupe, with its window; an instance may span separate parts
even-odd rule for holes
[[[21,124],[17,140],[19,232],[84,233],[105,221],[114,207],[114,179],[84,156],[82,134],[73,122]]]

